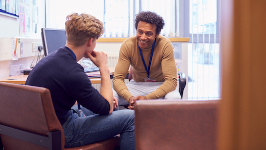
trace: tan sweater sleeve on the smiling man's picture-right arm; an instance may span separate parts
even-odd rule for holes
[[[157,90],[146,96],[148,100],[162,98],[177,88],[177,68],[171,42],[167,42],[162,53],[161,65],[165,82]]]

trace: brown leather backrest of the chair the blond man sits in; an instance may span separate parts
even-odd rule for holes
[[[0,132],[4,150],[49,150],[47,147],[24,141],[34,141],[32,136],[22,134],[22,140],[14,138],[25,133],[23,131],[44,137],[48,137],[51,132],[60,131],[57,140],[59,149],[64,149],[64,132],[55,114],[48,89],[0,82],[0,114],[0,125],[7,132]],[[18,129],[18,132],[9,131],[8,127]],[[42,140],[37,142],[44,143]]]

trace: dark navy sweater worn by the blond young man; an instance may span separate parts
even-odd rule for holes
[[[76,62],[72,51],[67,47],[41,59],[30,72],[26,85],[49,89],[61,124],[67,120],[76,100],[94,113],[109,114],[108,101],[91,86],[83,67]]]

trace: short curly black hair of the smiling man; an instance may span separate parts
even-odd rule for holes
[[[156,34],[160,34],[161,30],[164,28],[165,22],[164,18],[155,12],[151,11],[141,11],[136,14],[135,18],[135,28],[137,30],[137,25],[139,21],[144,21],[152,25],[156,25]]]

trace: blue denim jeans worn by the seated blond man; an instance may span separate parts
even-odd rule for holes
[[[72,108],[79,112],[77,105]],[[79,117],[77,113],[71,112],[62,125],[65,148],[97,143],[120,134],[120,150],[135,150],[133,110],[117,110],[110,115],[94,114],[85,107],[82,107],[82,111],[86,117]]]

